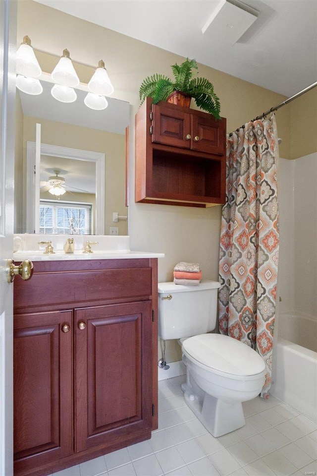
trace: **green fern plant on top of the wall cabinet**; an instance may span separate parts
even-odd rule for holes
[[[165,101],[174,91],[180,91],[194,98],[198,107],[207,111],[216,119],[220,119],[220,101],[213,91],[213,85],[206,78],[197,77],[196,60],[185,60],[181,64],[171,66],[174,81],[163,74],[148,76],[140,86],[141,104],[147,96],[153,99],[153,104]]]

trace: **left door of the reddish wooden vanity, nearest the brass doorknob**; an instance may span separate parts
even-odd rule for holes
[[[73,453],[71,325],[71,310],[14,316],[17,474]]]

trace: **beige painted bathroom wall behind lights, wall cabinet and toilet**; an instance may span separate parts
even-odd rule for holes
[[[165,253],[159,260],[159,280],[171,280],[178,261],[197,261],[204,278],[218,279],[221,207],[209,209],[134,202],[134,117],[142,80],[156,72],[170,75],[170,65],[184,58],[98,25],[66,15],[30,0],[18,2],[18,42],[28,35],[35,48],[60,56],[67,47],[73,59],[91,66],[100,59],[114,85],[113,97],[129,101],[129,234],[131,248]],[[41,60],[41,58],[40,58]],[[57,58],[56,58],[57,61]],[[45,65],[44,65],[45,66]],[[45,70],[45,67],[43,69]],[[52,71],[53,64],[50,66]],[[285,100],[285,97],[207,66],[201,76],[211,80],[230,132]],[[81,71],[78,70],[79,75]],[[90,78],[80,76],[87,82]],[[276,112],[281,157],[290,158],[290,109]],[[167,345],[167,361],[180,358],[178,345]]]

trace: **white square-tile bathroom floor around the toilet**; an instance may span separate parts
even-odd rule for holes
[[[185,376],[159,381],[159,428],[151,440],[53,476],[317,475],[317,425],[274,397],[244,406],[246,425],[219,438],[186,406]]]

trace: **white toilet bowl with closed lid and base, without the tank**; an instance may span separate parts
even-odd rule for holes
[[[265,380],[265,364],[251,347],[220,334],[182,340],[189,408],[215,437],[245,424],[242,402],[255,398]]]

